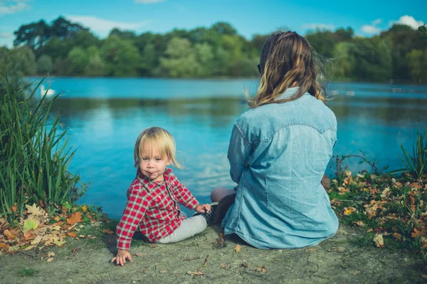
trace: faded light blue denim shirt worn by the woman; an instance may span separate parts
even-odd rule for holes
[[[315,246],[333,236],[338,219],[320,181],[336,141],[334,113],[309,93],[243,113],[228,148],[238,187],[224,233],[256,248]]]

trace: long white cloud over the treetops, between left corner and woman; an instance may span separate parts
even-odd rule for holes
[[[112,30],[112,28],[120,28],[121,30],[136,30],[137,28],[147,25],[147,22],[128,23],[120,21],[110,21],[100,19],[95,16],[68,15],[65,16],[65,18],[90,28],[92,31],[95,31],[95,33],[98,33],[100,36],[107,36],[107,34]]]

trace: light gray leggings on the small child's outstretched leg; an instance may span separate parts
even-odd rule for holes
[[[203,232],[208,224],[204,216],[193,216],[188,219],[181,221],[181,226],[177,228],[169,236],[159,239],[156,243],[176,243],[178,241],[183,241],[186,238],[194,236],[196,233]]]

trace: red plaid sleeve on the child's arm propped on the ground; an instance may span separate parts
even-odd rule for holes
[[[118,250],[129,251],[132,236],[137,231],[138,225],[144,218],[148,207],[147,196],[143,196],[141,191],[137,189],[130,191],[122,219],[120,219],[116,227]]]

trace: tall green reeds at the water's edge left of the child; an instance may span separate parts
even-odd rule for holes
[[[0,77],[0,216],[11,224],[26,204],[53,211],[83,194],[78,174],[68,172],[73,158],[59,115],[49,113],[57,98],[36,98],[35,87],[11,88]]]

